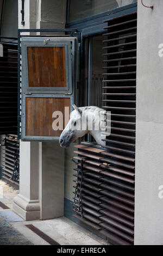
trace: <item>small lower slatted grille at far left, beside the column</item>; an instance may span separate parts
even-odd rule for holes
[[[3,137],[3,179],[16,187],[19,185],[19,146],[19,140],[16,135]]]

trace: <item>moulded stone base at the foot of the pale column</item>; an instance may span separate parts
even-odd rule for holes
[[[13,200],[13,211],[21,216],[25,221],[33,221],[40,219],[39,200],[28,200],[18,194]]]

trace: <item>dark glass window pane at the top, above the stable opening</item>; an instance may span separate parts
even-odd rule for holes
[[[69,22],[123,7],[137,0],[70,0]]]

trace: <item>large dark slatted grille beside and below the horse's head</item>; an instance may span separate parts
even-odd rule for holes
[[[73,216],[114,245],[134,243],[136,19],[132,13],[105,21],[102,107],[111,111],[111,135],[104,149],[80,144],[74,151]]]

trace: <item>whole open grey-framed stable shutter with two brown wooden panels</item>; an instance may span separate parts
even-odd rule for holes
[[[22,47],[22,125],[26,141],[58,140],[72,111],[76,38],[24,37]],[[62,115],[61,127],[53,126]],[[67,117],[66,117],[67,121]],[[59,125],[58,125],[59,126]]]

